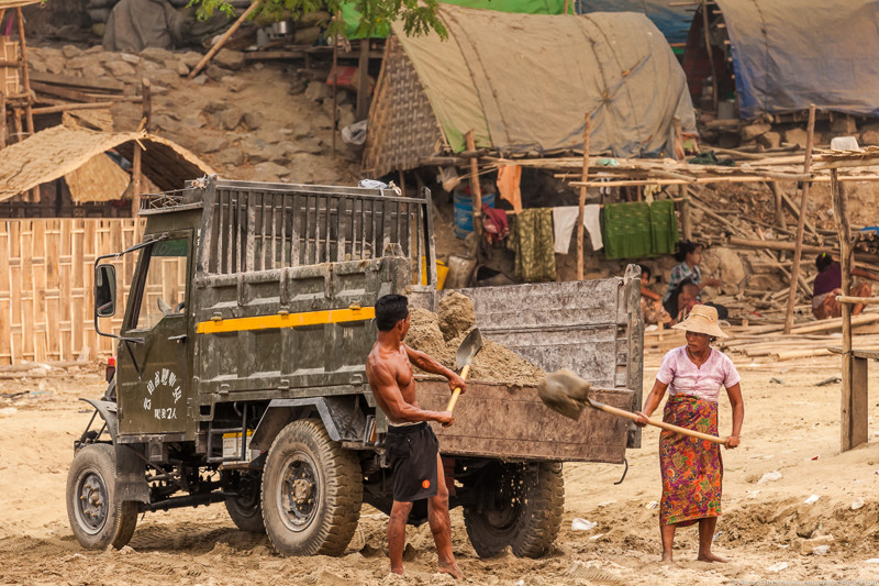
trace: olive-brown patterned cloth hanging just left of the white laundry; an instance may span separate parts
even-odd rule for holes
[[[507,247],[515,252],[515,276],[526,283],[556,279],[552,208],[522,210],[514,217]]]

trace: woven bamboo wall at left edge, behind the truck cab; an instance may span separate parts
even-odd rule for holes
[[[0,364],[114,353],[114,341],[94,332],[94,258],[140,242],[143,228],[134,219],[0,220]],[[119,331],[136,261],[113,261],[119,309],[102,329]]]

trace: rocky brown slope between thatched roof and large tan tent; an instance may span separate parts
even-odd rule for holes
[[[201,57],[191,51],[160,48],[137,55],[74,45],[27,51],[37,78],[43,74],[82,78],[96,86],[121,82],[124,96],[140,93],[141,80],[148,79],[151,130],[189,148],[224,177],[356,183],[356,157],[341,139],[338,156],[331,156],[332,97],[323,81],[307,82],[276,65],[245,66],[244,54],[231,49],[220,51],[193,80],[186,79]],[[340,128],[344,128],[354,121],[354,98],[340,90],[337,101]],[[132,131],[142,118],[141,106],[126,101],[118,101],[110,112],[112,128],[99,125],[99,130]],[[82,118],[88,120],[87,114]]]

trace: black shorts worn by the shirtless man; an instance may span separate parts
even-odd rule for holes
[[[408,502],[436,496],[436,454],[439,441],[426,421],[388,425],[385,436],[393,479],[393,500]]]

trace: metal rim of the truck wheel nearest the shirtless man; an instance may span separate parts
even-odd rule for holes
[[[296,451],[281,469],[277,499],[281,520],[291,531],[304,531],[320,508],[318,466],[309,454]]]

